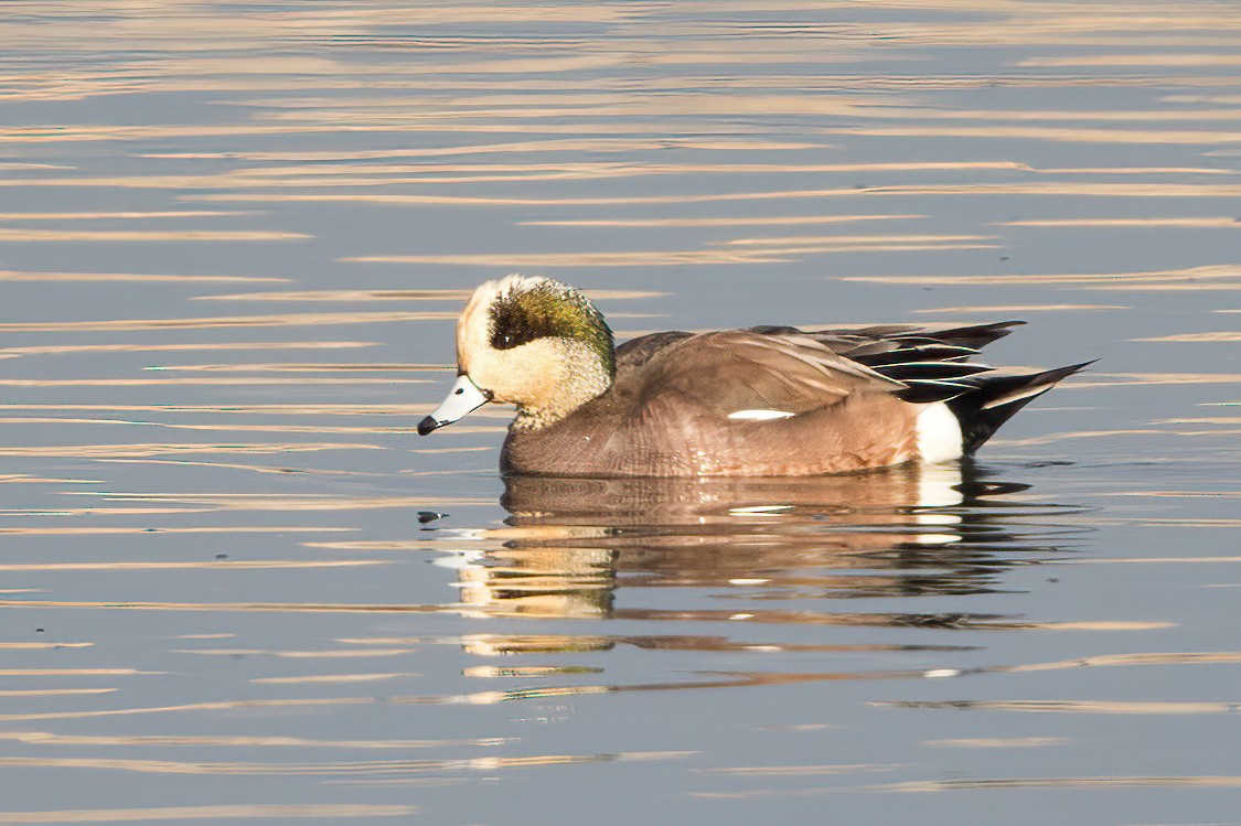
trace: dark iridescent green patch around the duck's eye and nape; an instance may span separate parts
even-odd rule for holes
[[[599,356],[609,376],[616,375],[612,330],[589,299],[565,284],[540,280],[510,289],[491,304],[491,346],[511,350],[535,339],[572,339]]]

